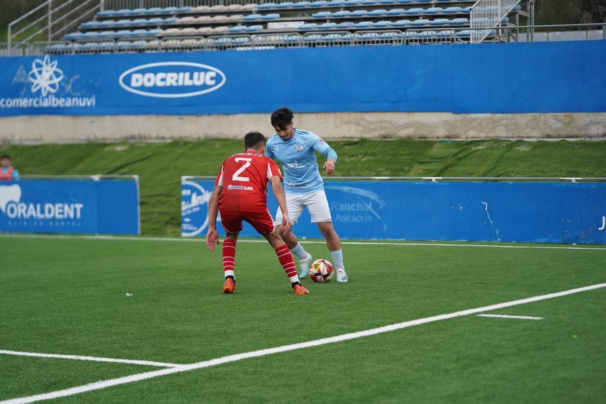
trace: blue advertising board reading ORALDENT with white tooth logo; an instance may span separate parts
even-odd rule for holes
[[[135,179],[2,182],[0,231],[139,234],[139,186]]]

